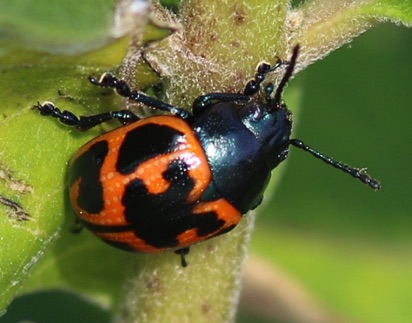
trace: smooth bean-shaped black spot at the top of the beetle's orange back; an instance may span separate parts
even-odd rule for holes
[[[183,133],[168,126],[146,124],[129,131],[119,149],[116,170],[123,174],[132,173],[141,163],[174,151]]]

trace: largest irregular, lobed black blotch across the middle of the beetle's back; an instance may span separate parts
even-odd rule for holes
[[[195,204],[188,204],[187,197],[194,188],[184,160],[172,161],[162,173],[170,183],[161,194],[149,194],[140,179],[130,182],[122,199],[126,221],[136,236],[157,248],[178,246],[177,236],[196,229],[199,236],[218,231],[225,222],[216,213],[194,214]]]

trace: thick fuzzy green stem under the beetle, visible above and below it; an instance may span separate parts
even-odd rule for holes
[[[184,1],[178,20],[170,16],[181,29],[145,53],[167,101],[190,107],[200,93],[242,90],[260,61],[284,55],[287,8],[286,0]],[[232,232],[192,246],[187,268],[171,252],[145,256],[118,321],[233,321],[253,222],[245,215]]]

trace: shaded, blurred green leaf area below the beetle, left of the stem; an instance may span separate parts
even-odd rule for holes
[[[110,248],[86,230],[73,233],[64,226],[33,270],[23,293],[62,289],[112,309],[122,299],[135,266],[136,259],[129,253]]]

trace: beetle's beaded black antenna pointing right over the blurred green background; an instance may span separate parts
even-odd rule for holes
[[[381,188],[381,185],[379,184],[379,182],[376,179],[373,179],[372,177],[370,177],[368,174],[366,174],[363,169],[350,167],[346,164],[343,164],[343,163],[340,163],[336,160],[333,160],[332,158],[327,157],[327,156],[323,155],[321,152],[319,152],[319,151],[309,147],[308,145],[304,144],[300,140],[291,139],[291,140],[289,140],[289,144],[291,144],[291,145],[293,145],[293,146],[295,146],[299,149],[303,149],[304,151],[307,151],[312,156],[320,159],[321,161],[325,162],[326,164],[329,164],[329,165],[343,171],[344,173],[347,173],[347,174],[357,178],[362,183],[369,185],[369,187],[371,187],[375,191],[377,191]]]

